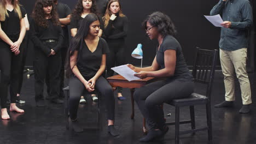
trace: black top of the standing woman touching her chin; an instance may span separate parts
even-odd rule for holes
[[[104,29],[106,40],[124,39],[128,32],[128,19],[126,16],[117,16],[114,21],[109,20],[107,27]]]

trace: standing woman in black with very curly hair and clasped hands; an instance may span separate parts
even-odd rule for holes
[[[55,4],[51,0],[38,0],[31,20],[31,40],[34,43],[34,78],[36,105],[44,104],[44,80],[49,76],[51,102],[61,104],[60,70],[63,34]]]

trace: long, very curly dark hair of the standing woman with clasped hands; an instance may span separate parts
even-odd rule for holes
[[[53,21],[54,26],[60,26],[59,16],[57,14],[57,9],[52,0],[38,0],[34,5],[32,17],[38,26],[47,28],[49,26],[47,19],[45,19],[44,7],[52,6],[51,9],[51,21]]]

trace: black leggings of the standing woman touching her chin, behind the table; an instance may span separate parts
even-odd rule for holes
[[[118,65],[125,64],[125,41],[117,40],[117,41],[107,41],[109,47],[109,53],[107,54],[107,74],[106,77],[110,77],[114,75],[114,71],[111,69]],[[122,92],[121,87],[117,87],[118,92]]]

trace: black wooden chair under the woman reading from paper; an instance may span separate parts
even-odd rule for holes
[[[195,62],[193,67],[193,77],[195,82],[207,85],[206,95],[192,93],[190,97],[174,99],[170,105],[175,106],[175,122],[166,123],[175,125],[175,143],[179,143],[179,135],[195,133],[196,131],[208,130],[208,140],[212,140],[212,113],[211,113],[211,91],[216,67],[218,50],[196,49]],[[195,128],[194,105],[206,105],[207,127]],[[189,106],[190,120],[179,120],[179,108]],[[191,123],[191,130],[179,131],[179,124]]]

